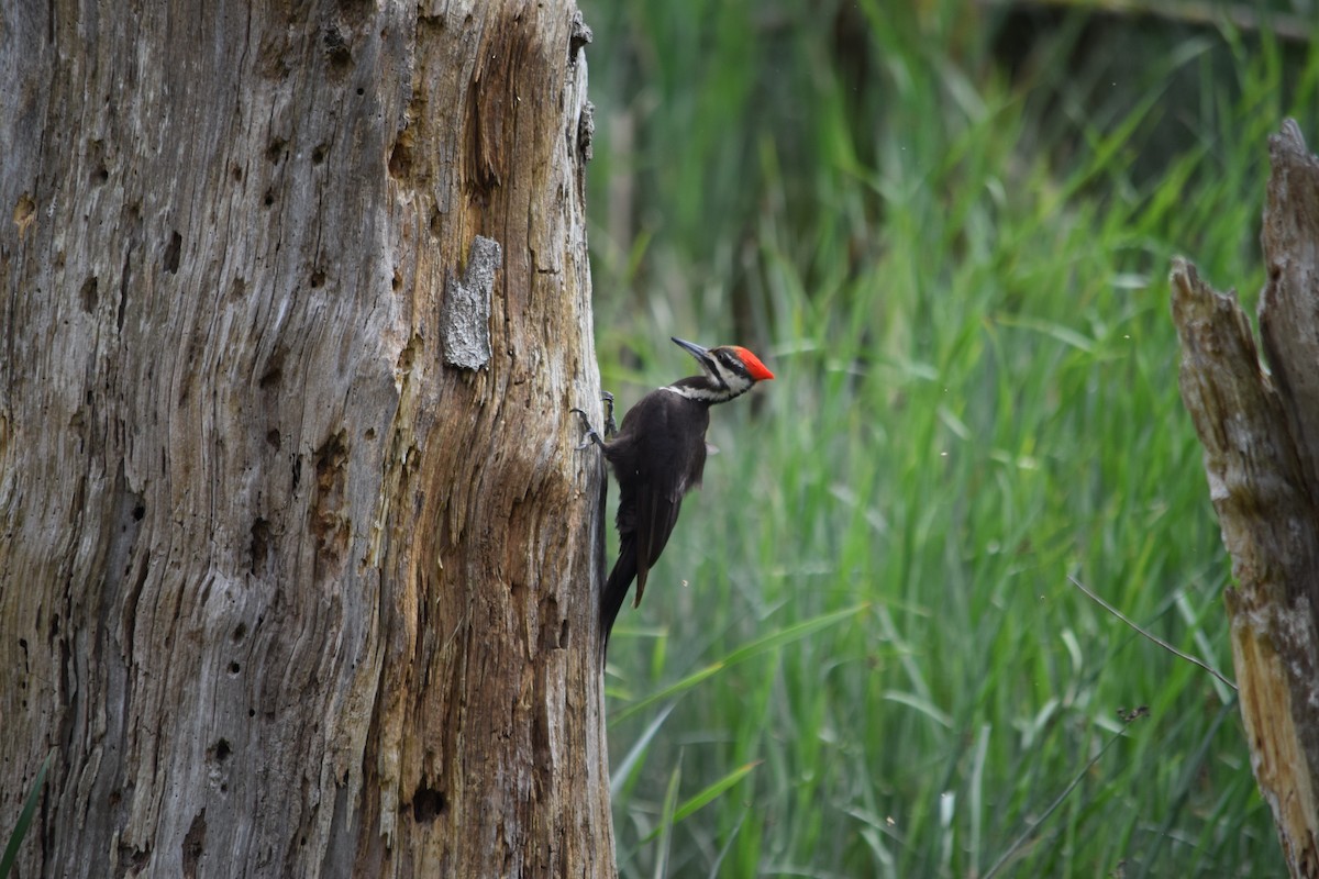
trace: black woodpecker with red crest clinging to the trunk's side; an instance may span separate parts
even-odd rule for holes
[[[587,441],[582,448],[596,443],[619,481],[619,560],[600,594],[601,658],[628,586],[637,581],[632,604],[636,608],[646,589],[646,575],[678,522],[682,496],[700,485],[710,407],[741,397],[756,382],[774,377],[745,348],[702,348],[682,339],[673,341],[696,358],[702,374],[679,378],[642,397],[623,418],[621,430],[613,426],[613,397],[605,394],[604,432],[612,440],[603,440],[591,428],[586,412],[572,410],[586,424]]]

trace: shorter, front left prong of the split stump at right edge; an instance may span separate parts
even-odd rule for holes
[[[1250,766],[1291,874],[1315,876],[1319,515],[1245,312],[1182,260],[1174,261],[1171,286],[1182,399],[1204,444],[1210,497],[1237,580],[1225,604]]]

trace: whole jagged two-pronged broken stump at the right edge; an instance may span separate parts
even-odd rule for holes
[[[1319,876],[1319,159],[1287,120],[1269,140],[1260,328],[1173,266],[1182,397],[1232,555],[1232,656],[1250,764],[1294,876]]]

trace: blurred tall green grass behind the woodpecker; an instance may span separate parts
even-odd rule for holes
[[[611,640],[621,875],[1283,875],[1232,689],[1068,577],[1232,675],[1166,275],[1253,307],[1312,4],[582,5],[605,386],[777,374]]]

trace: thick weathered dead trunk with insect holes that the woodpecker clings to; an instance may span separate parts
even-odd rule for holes
[[[169,7],[0,11],[21,875],[611,875],[588,32]]]

